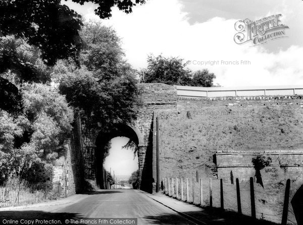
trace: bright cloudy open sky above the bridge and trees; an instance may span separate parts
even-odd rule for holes
[[[86,20],[99,20],[93,4],[63,4]],[[302,12],[298,0],[147,0],[128,15],[113,8],[113,16],[102,22],[117,31],[126,59],[137,69],[146,67],[148,54],[162,53],[189,61],[193,71],[209,69],[216,75],[214,83],[224,87],[301,85]],[[259,46],[234,42],[235,22],[274,14],[282,14],[287,37]],[[249,64],[229,63],[241,60]]]

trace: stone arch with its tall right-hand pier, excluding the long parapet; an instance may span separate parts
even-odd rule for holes
[[[131,124],[117,124],[107,133],[86,130],[82,126],[84,178],[96,180],[101,188],[106,188],[103,168],[104,149],[114,137],[125,136],[137,145],[139,160],[140,189],[151,191],[157,182],[156,166],[156,116],[177,115],[177,89],[165,84],[139,84],[142,89],[137,119]]]

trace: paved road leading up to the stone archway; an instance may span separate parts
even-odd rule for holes
[[[60,202],[60,201],[59,201]],[[0,211],[0,219],[138,218],[138,224],[194,224],[133,189],[99,190],[62,204]]]

